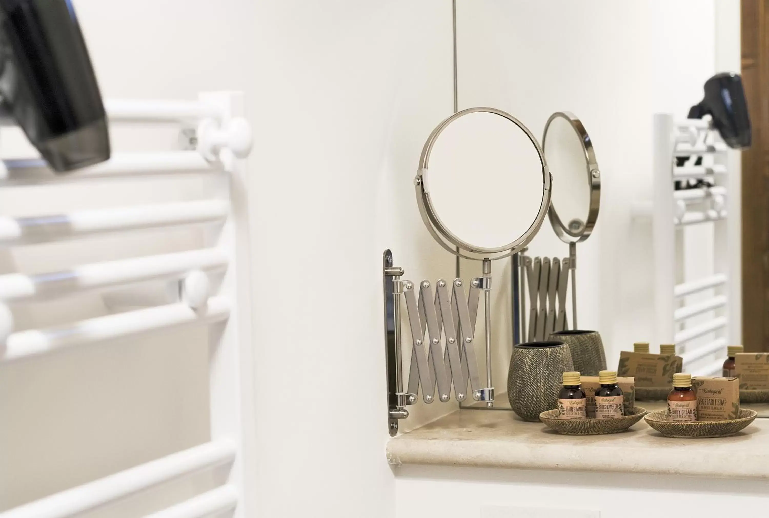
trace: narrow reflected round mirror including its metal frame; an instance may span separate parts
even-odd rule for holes
[[[601,172],[590,135],[574,114],[558,111],[544,127],[542,147],[558,185],[548,211],[550,222],[561,241],[584,241],[601,204]]]

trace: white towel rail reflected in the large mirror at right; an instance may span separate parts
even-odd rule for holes
[[[732,167],[727,146],[707,121],[654,115],[654,198],[635,204],[634,216],[652,223],[655,340],[676,343],[684,371],[693,374],[721,374],[727,344],[740,340],[739,287],[730,282],[739,272],[739,256],[730,254],[739,247],[740,214],[738,197],[730,196],[739,181]],[[690,179],[714,185],[674,189],[676,181]],[[684,227],[691,225],[712,232],[712,250],[686,246]],[[704,277],[685,279],[687,258],[713,267]]]

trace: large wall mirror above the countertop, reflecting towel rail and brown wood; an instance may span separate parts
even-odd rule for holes
[[[732,141],[734,134],[722,134],[718,128],[724,125],[717,124],[725,121],[727,106],[741,119],[747,105],[754,128],[756,121],[764,121],[769,89],[761,88],[764,80],[759,78],[767,77],[769,60],[743,62],[740,91],[737,78],[721,71],[739,69],[742,56],[762,55],[760,38],[748,41],[741,34],[764,30],[764,19],[741,17],[741,2],[715,17],[712,9],[674,9],[674,3],[651,8],[664,20],[652,34],[641,28],[648,25],[648,15],[638,2],[622,4],[628,23],[618,31],[607,23],[618,12],[600,2],[559,2],[553,9],[552,2],[457,0],[458,102],[504,107],[536,132],[553,176],[551,222],[557,214],[564,228],[557,227],[556,234],[561,231],[564,240],[570,237],[564,229],[579,234],[573,227],[587,223],[587,164],[578,133],[567,119],[556,117],[548,133],[543,131],[554,111],[573,111],[582,118],[601,170],[604,208],[598,220],[604,238],[588,238],[575,247],[578,327],[600,332],[611,370],[618,368],[621,351],[633,350],[634,341],[651,342],[655,354],[669,341],[677,342],[684,372],[719,376],[728,345],[769,351],[769,275],[752,274],[765,271],[769,254],[766,188],[761,182],[741,188],[741,178],[763,178],[769,141],[756,138],[754,131],[751,148],[741,151],[740,161],[724,141],[724,136]],[[748,4],[757,5],[742,2]],[[714,18],[715,30],[703,38],[701,28],[713,27]],[[634,26],[639,30],[629,30]],[[649,45],[657,49],[653,59],[647,58]],[[451,42],[441,48],[450,55]],[[623,58],[618,60],[618,55]],[[627,73],[618,73],[618,63],[631,64]],[[639,88],[646,78],[654,78],[653,84]],[[714,110],[712,116],[703,115]],[[568,245],[549,230],[528,246],[532,261],[568,257]],[[751,246],[731,246],[740,241]],[[494,264],[495,275],[502,262]],[[461,264],[465,278],[477,271],[470,261]],[[531,308],[549,310],[551,301],[535,289],[532,304],[524,272],[518,271],[518,284],[507,278],[498,282],[498,277],[494,301],[510,300],[508,304],[522,310],[514,314],[497,304],[492,336],[512,344],[515,324],[523,322],[528,330]],[[533,285],[538,288],[544,276],[536,278]],[[574,276],[568,278],[571,329]],[[671,297],[686,285],[699,288],[685,297]],[[503,320],[505,313],[511,316]],[[494,380],[505,379],[512,347],[495,347],[493,354]],[[741,397],[741,405],[761,417],[769,417],[769,384],[765,387],[761,404]],[[497,399],[501,405],[504,397]],[[651,411],[667,404],[664,397],[660,407],[652,403],[641,406]],[[644,427],[643,420],[639,427]]]

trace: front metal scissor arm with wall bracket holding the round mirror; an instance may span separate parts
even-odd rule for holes
[[[484,261],[485,263],[485,261]],[[454,397],[464,401],[468,389],[474,400],[494,403],[491,387],[489,344],[491,266],[484,264],[483,277],[474,277],[469,289],[461,278],[408,281],[401,279],[402,268],[392,266],[392,254],[384,253],[384,318],[386,323],[388,366],[388,420],[390,433],[398,433],[398,420],[408,417],[408,405],[436,399],[446,402]],[[481,386],[475,353],[475,328],[478,304],[484,294],[486,309],[487,387]],[[406,321],[411,335],[411,362],[408,387],[403,389],[401,356],[401,303],[406,305]],[[469,387],[468,387],[469,385]],[[437,392],[436,392],[437,390]]]

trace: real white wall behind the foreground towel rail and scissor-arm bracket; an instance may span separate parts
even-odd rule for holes
[[[450,6],[81,0],[75,8],[105,97],[246,92],[255,130],[257,516],[392,516],[381,252],[392,247],[414,277],[453,270],[421,226],[413,194],[402,195],[424,137],[451,113]],[[175,135],[144,131],[113,137],[125,148],[174,143]],[[6,154],[23,152],[18,135],[6,141]],[[51,194],[46,208],[64,210],[75,196],[104,206],[202,195],[205,185],[194,182],[157,193],[102,188],[69,194],[58,208]],[[144,251],[121,245],[99,241],[88,257]],[[6,271],[24,270],[32,252],[14,252]],[[30,268],[65,267],[82,254],[57,249],[48,259]],[[105,311],[89,304],[88,314]],[[50,314],[28,315],[28,325]],[[53,314],[73,317],[68,307]],[[189,334],[164,338],[4,367],[0,410],[13,425],[0,437],[0,509],[206,440],[205,344],[191,355]],[[129,504],[126,516],[143,509]]]

